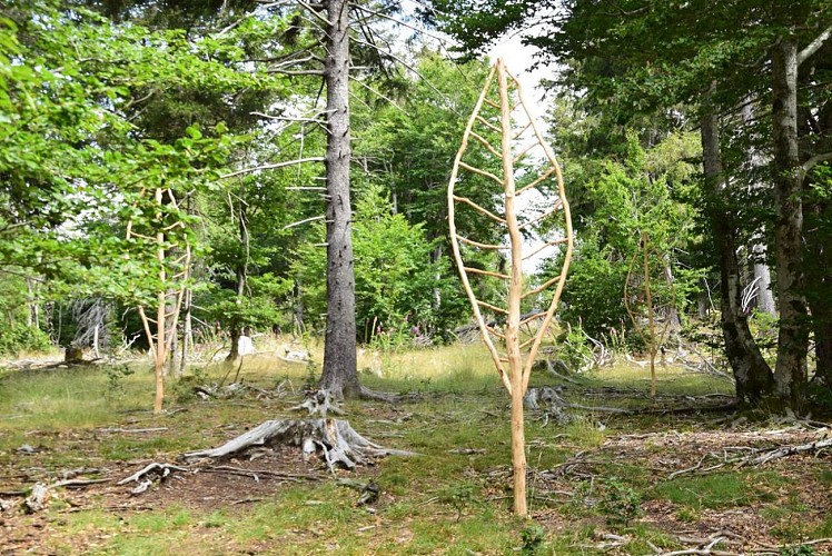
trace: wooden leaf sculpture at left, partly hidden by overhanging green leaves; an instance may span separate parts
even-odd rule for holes
[[[147,196],[142,190],[141,197]],[[156,249],[158,281],[156,281],[156,307],[138,307],[150,351],[153,354],[156,398],[153,413],[161,413],[165,398],[165,363],[172,350],[177,334],[179,312],[185,297],[190,270],[190,244],[185,222],[179,218],[179,206],[170,189],[153,189],[152,199],[142,199],[152,206],[152,221],[127,224],[127,238],[148,242]]]

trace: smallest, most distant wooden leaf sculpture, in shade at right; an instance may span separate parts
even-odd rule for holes
[[[671,321],[675,318],[673,275],[664,257],[642,232],[638,249],[633,254],[624,282],[624,307],[633,328],[650,350],[650,395],[656,397],[656,351],[667,339]],[[656,320],[664,324],[656,331]]]

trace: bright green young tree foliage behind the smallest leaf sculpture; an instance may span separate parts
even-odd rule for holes
[[[695,214],[677,199],[679,190],[690,187],[692,170],[685,157],[691,152],[695,149],[690,137],[668,136],[645,150],[630,132],[620,158],[580,162],[580,177],[569,179],[577,189],[569,191],[576,196],[577,240],[562,312],[573,327],[580,324],[594,338],[632,327],[624,306],[624,284],[631,260],[640,252],[642,232],[648,235],[661,257],[652,259],[657,265],[652,288],[656,296],[663,284],[667,289],[670,270],[676,294],[673,305],[684,309],[699,280],[696,272],[676,271],[684,266],[684,252],[694,239]],[[558,266],[559,261],[553,260],[548,268]],[[549,276],[552,270],[546,272]],[[670,298],[670,292],[665,297]]]

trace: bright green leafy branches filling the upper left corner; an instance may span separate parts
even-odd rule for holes
[[[196,222],[189,199],[220,187],[239,148],[222,123],[232,110],[219,107],[283,90],[281,78],[244,68],[244,38],[266,23],[252,18],[200,38],[52,2],[13,8],[0,9],[10,18],[0,43],[14,54],[0,57],[0,270],[46,277],[53,299],[148,304],[169,287],[159,280],[157,234],[165,230],[169,254],[196,242],[191,226],[174,225]],[[158,203],[156,188],[180,205]],[[128,222],[139,234],[130,240]],[[166,264],[168,275],[180,270]]]

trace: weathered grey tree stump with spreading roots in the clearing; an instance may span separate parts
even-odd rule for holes
[[[329,469],[336,465],[351,469],[374,457],[413,456],[412,451],[384,448],[364,438],[343,419],[277,419],[252,428],[212,449],[185,454],[187,459],[218,459],[238,455],[248,448],[285,444],[300,446],[304,457],[320,451]]]

